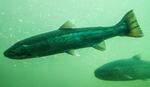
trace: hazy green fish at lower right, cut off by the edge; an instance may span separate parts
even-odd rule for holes
[[[133,81],[150,79],[150,61],[140,55],[102,65],[94,71],[96,78],[105,81]]]

